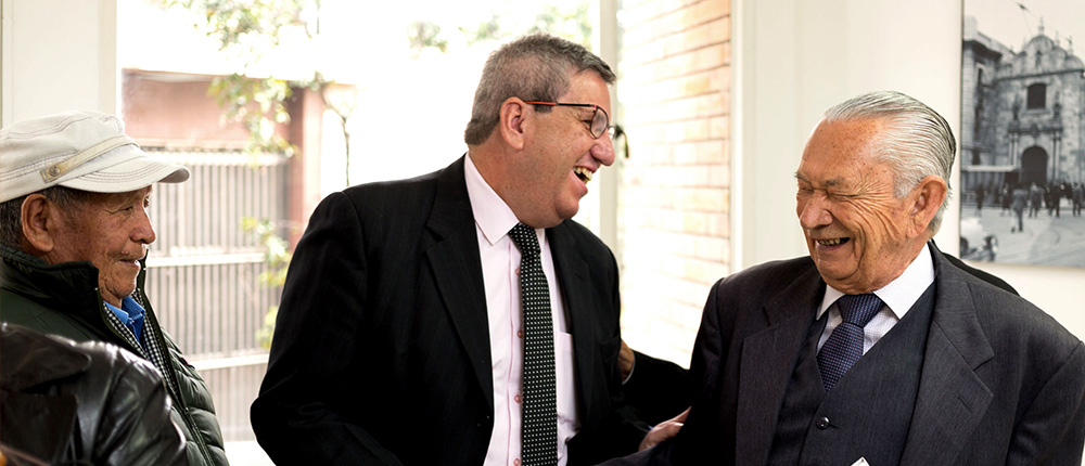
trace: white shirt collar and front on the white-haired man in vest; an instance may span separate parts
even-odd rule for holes
[[[884,306],[867,323],[867,326],[863,327],[864,354],[870,351],[870,347],[885,336],[893,328],[893,325],[904,319],[904,314],[908,312],[908,309],[911,309],[920,296],[923,296],[923,292],[927,292],[932,283],[934,283],[934,261],[931,259],[931,246],[926,245],[901,276],[873,292],[884,302]],[[815,318],[821,319],[826,311],[829,312],[829,322],[817,344],[819,350],[825,345],[825,340],[829,339],[832,329],[837,328],[837,325],[843,321],[843,318],[840,316],[840,310],[837,309],[837,299],[841,296],[844,296],[842,292],[826,285],[825,299],[821,300],[821,307],[818,308]]]

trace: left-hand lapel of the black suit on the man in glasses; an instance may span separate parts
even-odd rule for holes
[[[426,249],[437,290],[490,406],[494,405],[489,321],[471,199],[463,179],[463,158],[437,179],[426,226],[434,243]]]

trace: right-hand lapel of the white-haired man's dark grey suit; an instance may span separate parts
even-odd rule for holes
[[[933,244],[931,249],[937,287],[934,316],[902,464],[952,464],[994,398],[975,374],[994,351],[976,319],[965,272]]]

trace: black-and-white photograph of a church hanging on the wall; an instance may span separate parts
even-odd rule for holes
[[[1085,267],[1085,1],[963,10],[960,256]]]

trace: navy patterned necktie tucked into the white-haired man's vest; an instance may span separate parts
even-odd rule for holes
[[[832,329],[817,354],[825,391],[832,390],[837,380],[863,355],[863,327],[881,310],[882,300],[872,293],[844,295],[837,300],[837,308],[843,322]]]

